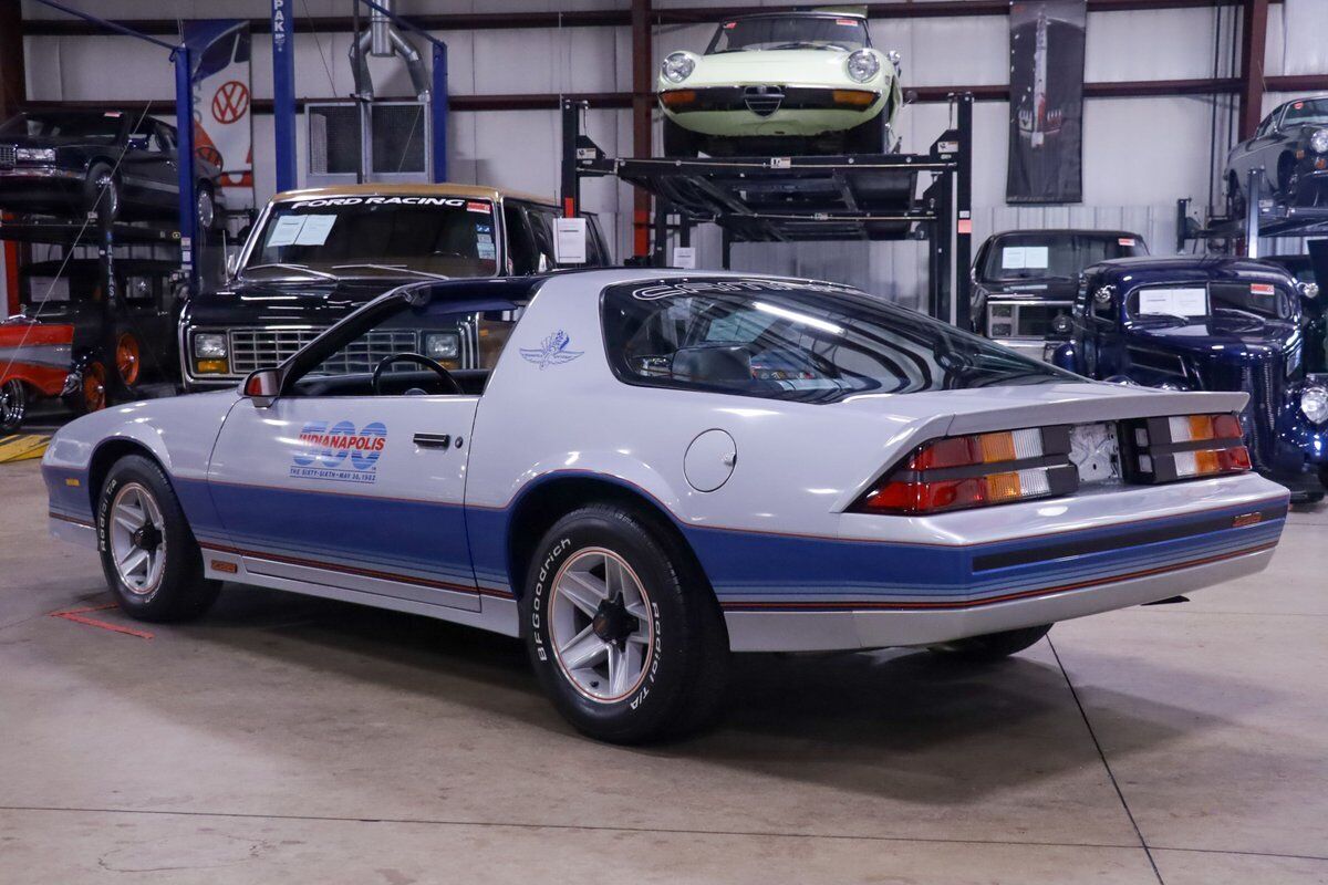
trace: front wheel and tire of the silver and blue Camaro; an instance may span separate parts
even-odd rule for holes
[[[170,480],[155,462],[126,455],[112,466],[97,500],[97,549],[106,584],[139,621],[185,621],[216,600],[203,556]]]

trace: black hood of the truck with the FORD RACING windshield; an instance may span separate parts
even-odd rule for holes
[[[313,324],[329,325],[385,292],[418,279],[244,281],[190,299],[186,325]]]

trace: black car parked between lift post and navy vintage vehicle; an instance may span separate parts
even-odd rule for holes
[[[1147,253],[1143,238],[1129,231],[996,234],[973,260],[973,332],[1046,360],[1069,337],[1080,272],[1106,259]]]

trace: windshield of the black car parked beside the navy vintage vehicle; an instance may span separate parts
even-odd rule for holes
[[[1127,234],[1008,234],[987,249],[981,280],[1077,280],[1098,261],[1147,253],[1143,240]]]

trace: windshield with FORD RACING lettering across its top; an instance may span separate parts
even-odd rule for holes
[[[452,196],[336,196],[276,206],[243,276],[494,276],[493,203]]]

